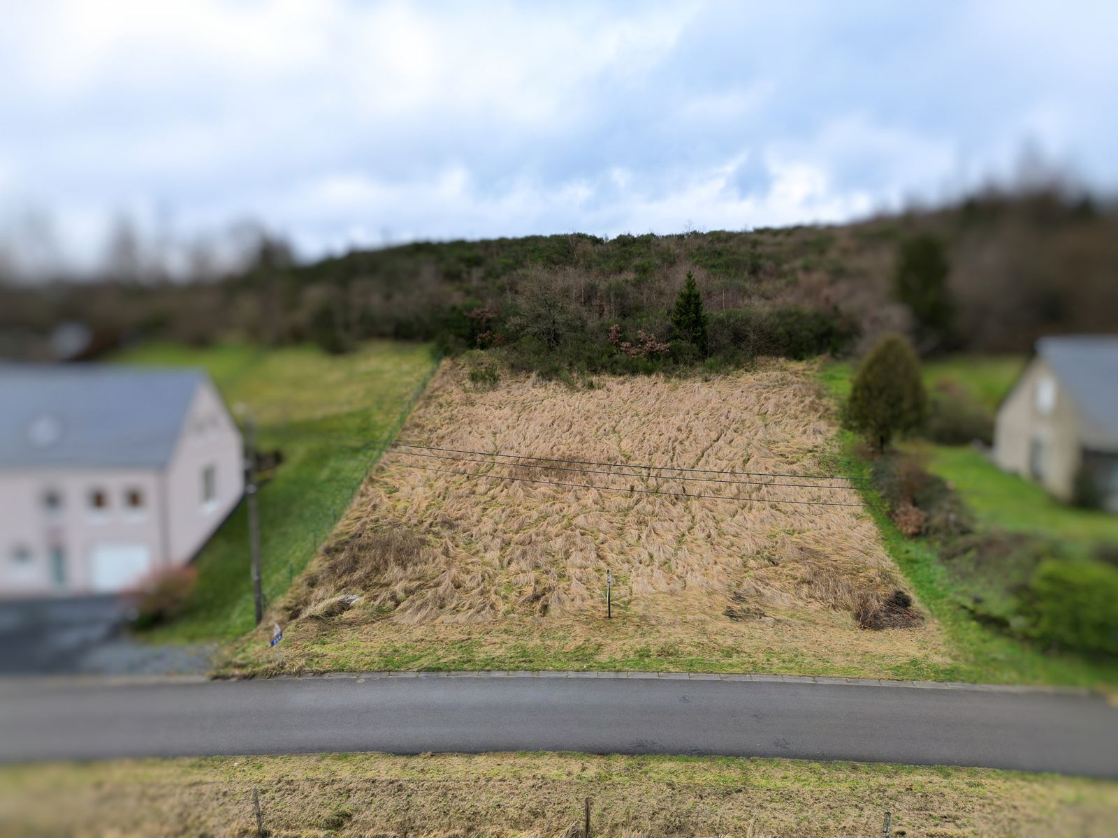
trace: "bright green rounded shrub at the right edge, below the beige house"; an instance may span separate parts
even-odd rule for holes
[[[1022,600],[1024,632],[1043,642],[1118,654],[1118,568],[1046,560]]]

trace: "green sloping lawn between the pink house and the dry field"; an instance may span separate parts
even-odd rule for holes
[[[282,451],[283,465],[259,494],[269,601],[283,594],[329,534],[436,365],[430,346],[388,341],[342,356],[314,346],[146,344],[119,360],[205,368],[230,408],[252,412],[258,447]],[[149,632],[153,639],[225,640],[253,628],[244,504],[202,549],[196,566],[198,583],[187,608]]]

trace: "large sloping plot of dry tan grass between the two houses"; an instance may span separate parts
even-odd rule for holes
[[[227,672],[948,672],[939,628],[894,604],[906,584],[858,493],[816,479],[835,431],[806,365],[575,388],[481,387],[467,363],[444,363],[401,440],[556,459],[392,449],[274,609],[282,665],[257,632]]]

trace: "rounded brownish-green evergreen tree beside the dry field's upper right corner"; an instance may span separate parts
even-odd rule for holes
[[[902,335],[882,335],[854,375],[847,426],[883,451],[894,435],[919,428],[927,410],[928,394],[912,345]]]

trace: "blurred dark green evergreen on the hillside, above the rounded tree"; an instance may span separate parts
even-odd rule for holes
[[[955,305],[947,288],[949,270],[944,245],[935,236],[912,236],[901,245],[893,286],[912,312],[921,342],[935,345],[950,334]]]

